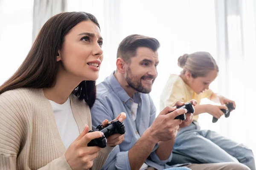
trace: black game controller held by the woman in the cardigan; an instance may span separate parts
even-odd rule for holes
[[[98,131],[103,132],[104,135],[100,138],[91,140],[87,146],[98,146],[101,148],[104,148],[107,146],[107,137],[111,136],[114,133],[119,134],[125,134],[125,125],[123,122],[119,122],[118,120],[115,120],[113,122],[109,122],[108,125],[105,127],[102,127],[102,125],[99,125],[96,127]],[[90,130],[89,132],[93,132],[93,130]]]

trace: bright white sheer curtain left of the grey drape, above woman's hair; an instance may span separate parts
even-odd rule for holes
[[[0,85],[14,74],[31,47],[33,0],[0,0]]]

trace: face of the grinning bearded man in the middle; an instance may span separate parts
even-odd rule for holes
[[[134,90],[148,94],[157,77],[158,53],[150,48],[137,48],[137,54],[127,65],[125,80]]]

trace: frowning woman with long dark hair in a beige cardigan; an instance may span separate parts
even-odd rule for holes
[[[101,169],[123,140],[87,147],[102,136],[88,133],[102,41],[92,14],[65,12],[44,24],[20,68],[0,86],[1,170]]]

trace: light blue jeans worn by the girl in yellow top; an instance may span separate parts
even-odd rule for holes
[[[195,121],[180,128],[173,149],[202,163],[240,162],[256,170],[252,150],[212,130],[200,130]]]

